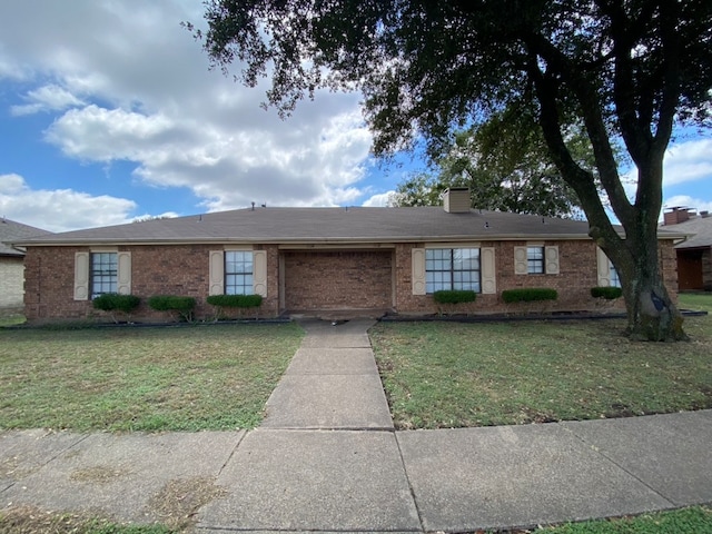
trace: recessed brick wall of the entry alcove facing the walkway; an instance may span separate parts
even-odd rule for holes
[[[288,310],[393,306],[392,250],[283,254]]]

